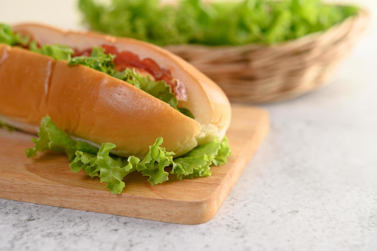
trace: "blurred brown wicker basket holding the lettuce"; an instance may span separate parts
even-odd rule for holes
[[[234,102],[274,102],[323,86],[368,23],[361,10],[325,32],[275,46],[167,46],[213,79]]]

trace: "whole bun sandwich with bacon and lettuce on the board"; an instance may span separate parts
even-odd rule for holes
[[[219,86],[157,46],[0,24],[0,126],[38,133],[28,157],[65,152],[71,171],[112,193],[133,171],[152,185],[168,180],[167,166],[178,180],[210,176],[230,156],[230,117]]]

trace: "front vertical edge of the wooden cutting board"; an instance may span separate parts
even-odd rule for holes
[[[13,178],[6,178],[2,177],[2,182],[0,182],[0,190],[1,198],[8,199],[8,200],[15,200],[20,202],[27,202],[27,203],[34,203],[39,205],[46,205],[46,206],[58,206],[61,208],[70,208],[75,210],[81,211],[88,211],[88,212],[96,212],[96,213],[103,213],[103,204],[95,205],[93,204],[90,210],[87,210],[87,205],[81,205],[79,203],[75,203],[78,198],[85,197],[84,194],[87,191],[93,192],[89,188],[75,188],[75,193],[70,191],[68,186],[58,185],[58,184],[51,184],[46,187],[45,183],[42,182],[33,182],[32,184],[20,184],[14,185],[17,182],[17,179]],[[40,187],[44,186],[45,192],[40,191]],[[54,197],[48,194],[48,190],[53,189],[55,191],[55,196],[57,191],[60,194],[64,194],[64,199],[62,200],[63,196]],[[82,191],[82,192],[80,192]],[[39,193],[38,198],[34,197],[35,193]],[[98,194],[102,194],[109,199],[109,192],[108,191],[96,191],[96,195],[93,195],[93,199],[98,196]],[[125,196],[124,196],[125,195]],[[120,195],[111,195],[113,200],[118,200]],[[151,206],[148,210],[139,210],[134,211],[133,208],[135,204],[140,204],[139,208],[143,208],[143,204],[141,201],[148,200],[150,198],[145,196],[135,196],[131,194],[123,194],[122,196],[122,204],[123,210],[110,211],[110,208],[107,208],[106,214],[118,215],[118,216],[126,216],[138,219],[146,219],[146,220],[155,220],[159,222],[168,222],[168,223],[180,223],[186,225],[194,225],[207,222],[208,220],[212,219],[213,216],[216,214],[218,208],[214,208],[214,201],[213,196],[209,197],[205,200],[198,200],[198,201],[186,201],[186,200],[169,200],[169,199],[160,199],[160,198],[153,198],[152,204],[159,204],[158,210],[160,214],[156,216],[154,214],[153,206]],[[136,199],[136,203],[135,203]],[[119,202],[120,200],[118,200]],[[114,202],[115,203],[115,202]],[[127,205],[131,205],[130,208],[127,208]],[[171,208],[181,208],[178,212],[171,211]],[[215,210],[214,210],[215,209]],[[134,211],[134,212],[132,212]],[[161,214],[164,212],[164,214]],[[183,217],[185,216],[185,217]]]

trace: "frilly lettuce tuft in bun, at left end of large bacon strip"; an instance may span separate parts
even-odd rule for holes
[[[101,71],[109,75],[114,75],[114,58],[115,55],[106,54],[105,49],[94,46],[92,52],[90,53],[90,57],[73,57],[69,60],[68,65],[85,65],[97,71]]]

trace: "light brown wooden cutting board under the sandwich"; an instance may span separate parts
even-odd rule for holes
[[[228,196],[246,164],[268,132],[264,109],[232,105],[227,137],[233,154],[228,163],[211,168],[212,176],[169,180],[152,186],[138,172],[126,176],[121,194],[110,194],[106,183],[73,173],[66,156],[48,152],[25,156],[32,136],[0,129],[0,197],[162,222],[199,224],[210,220]]]

